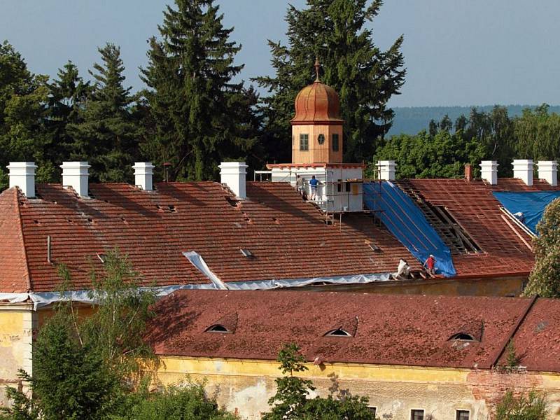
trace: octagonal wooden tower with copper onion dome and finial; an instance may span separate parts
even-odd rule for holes
[[[318,59],[315,82],[295,97],[292,125],[292,163],[341,163],[342,124],[340,99],[332,87],[319,80]]]

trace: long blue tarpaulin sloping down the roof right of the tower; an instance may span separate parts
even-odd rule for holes
[[[421,210],[398,186],[389,181],[364,183],[363,197],[368,209],[380,210],[376,216],[416,259],[423,263],[433,254],[436,273],[455,276],[451,251]]]

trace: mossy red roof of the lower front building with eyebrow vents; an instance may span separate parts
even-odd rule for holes
[[[167,356],[274,360],[284,343],[295,342],[307,360],[489,368],[530,304],[507,297],[182,290],[155,304],[146,338]],[[514,336],[521,364],[560,371],[560,302],[533,306]],[[235,332],[205,332],[228,314],[237,314]],[[540,323],[547,323],[542,331]],[[344,325],[355,329],[353,337],[323,337]],[[449,340],[460,332],[482,339]]]

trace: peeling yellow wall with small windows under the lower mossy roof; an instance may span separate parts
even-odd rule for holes
[[[493,406],[505,389],[546,391],[551,414],[560,410],[560,374],[507,374],[468,370],[354,363],[307,364],[302,377],[317,387],[315,395],[364,395],[380,419],[492,419]],[[268,399],[276,392],[278,363],[272,360],[218,358],[162,358],[161,384],[191,379],[205,381],[218,403],[237,412],[241,419],[260,419],[269,410]],[[412,410],[416,410],[413,412]],[[423,413],[423,417],[419,414]],[[413,414],[416,414],[414,417]]]

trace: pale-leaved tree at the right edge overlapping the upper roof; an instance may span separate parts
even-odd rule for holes
[[[524,295],[560,297],[560,199],[548,204],[533,239],[535,266]]]

